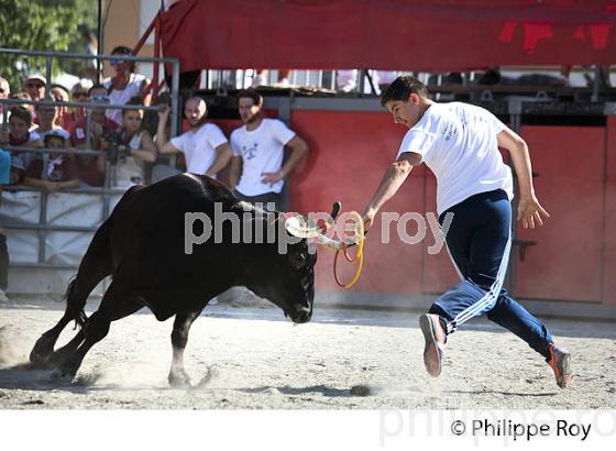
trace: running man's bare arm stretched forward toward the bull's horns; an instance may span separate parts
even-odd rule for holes
[[[414,166],[421,163],[421,155],[414,152],[405,152],[398,160],[389,165],[376,193],[372,197],[363,213],[364,229],[369,230],[372,227],[374,217],[381,210],[383,205],[389,200],[398,191],[400,186],[407,179]]]

